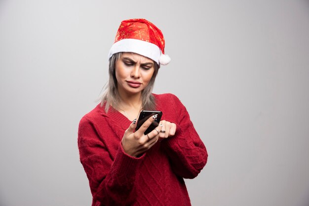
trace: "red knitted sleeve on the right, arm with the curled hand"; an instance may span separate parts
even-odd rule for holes
[[[176,134],[162,141],[169,156],[173,172],[183,178],[194,178],[207,162],[207,151],[204,143],[196,133],[186,107],[172,95],[169,99],[171,108],[177,115],[175,119],[165,119],[176,124]]]

